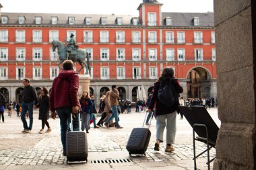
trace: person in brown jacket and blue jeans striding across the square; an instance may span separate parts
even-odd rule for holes
[[[119,91],[117,90],[117,85],[112,85],[112,91],[110,92],[110,105],[111,105],[111,109],[112,109],[112,115],[104,123],[104,125],[107,128],[109,128],[108,123],[113,118],[115,118],[115,126],[116,126],[116,128],[123,128],[123,127],[121,127],[119,125],[119,118],[118,118],[118,112],[117,112],[117,107],[119,105],[118,98],[119,98]]]

